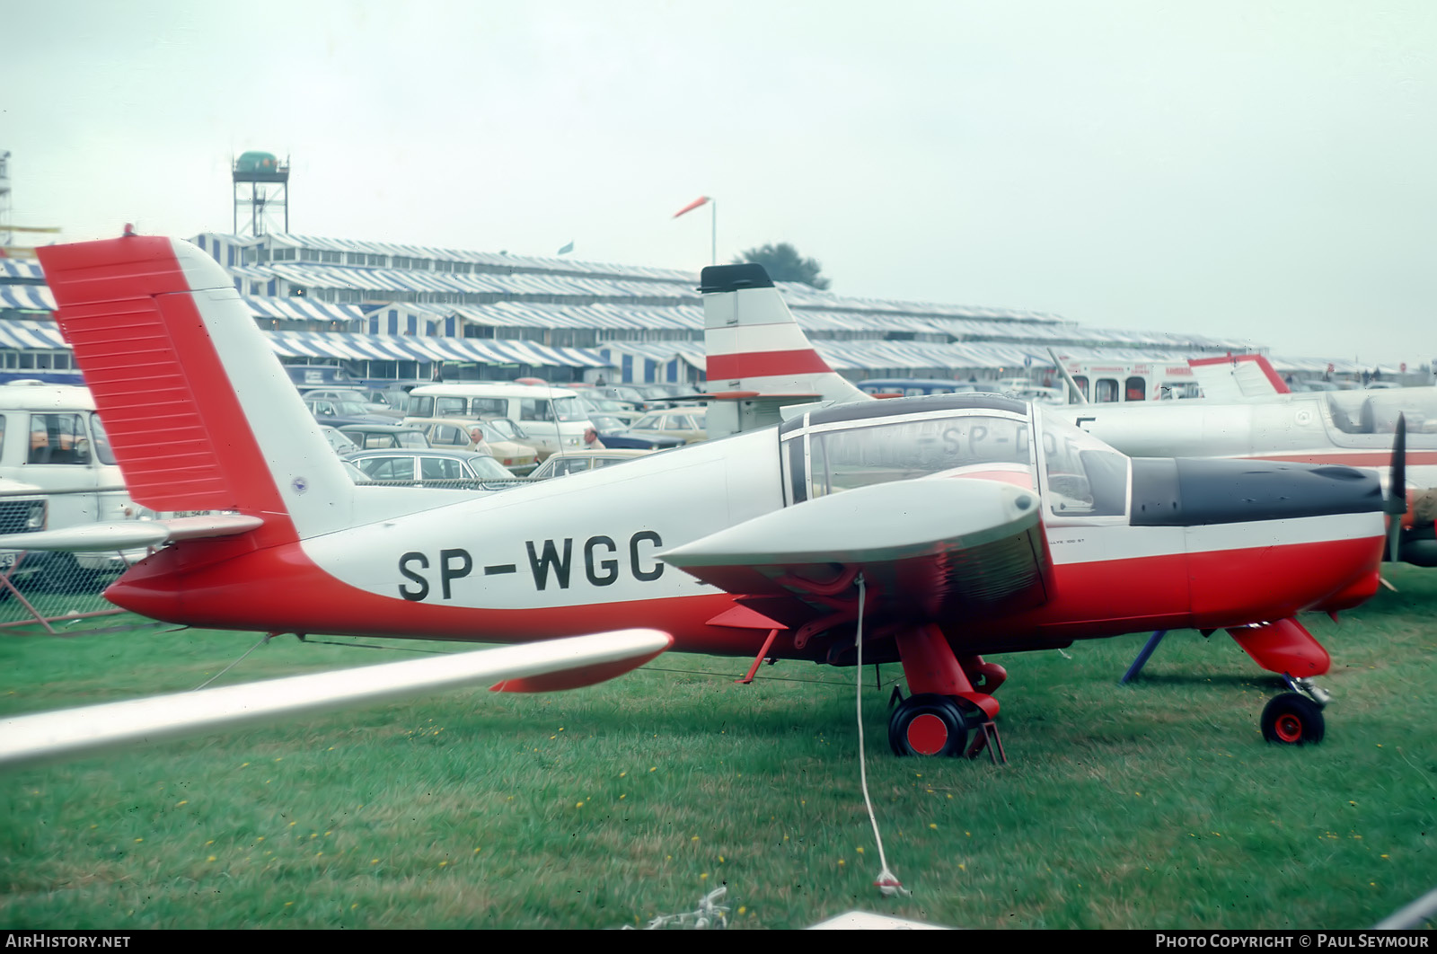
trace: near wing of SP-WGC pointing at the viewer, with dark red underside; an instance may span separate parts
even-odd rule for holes
[[[1036,493],[987,478],[872,484],[754,517],[660,559],[799,625],[856,573],[887,619],[957,621],[1048,601]]]

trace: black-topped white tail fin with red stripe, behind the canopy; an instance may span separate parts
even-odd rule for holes
[[[813,401],[868,401],[825,362],[762,264],[703,270],[708,389]]]

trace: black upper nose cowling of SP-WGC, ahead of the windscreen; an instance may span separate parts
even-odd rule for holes
[[[1270,460],[1135,458],[1134,526],[1204,526],[1382,510],[1374,471]]]

